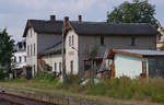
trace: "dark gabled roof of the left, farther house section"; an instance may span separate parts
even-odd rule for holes
[[[23,37],[26,37],[30,27],[33,27],[36,33],[62,34],[62,21],[27,20]]]

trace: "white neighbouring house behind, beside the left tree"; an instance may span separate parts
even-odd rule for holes
[[[15,52],[12,57],[12,69],[13,70],[22,70],[23,67],[26,66],[26,42],[23,39],[22,42],[17,42],[14,47]]]

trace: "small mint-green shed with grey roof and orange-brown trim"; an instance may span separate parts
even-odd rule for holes
[[[164,78],[164,51],[144,49],[112,49],[108,59],[114,61],[115,78]]]

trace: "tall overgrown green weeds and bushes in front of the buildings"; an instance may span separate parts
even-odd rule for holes
[[[138,78],[131,80],[127,77],[122,77],[120,79],[99,80],[96,84],[94,83],[94,80],[91,79],[85,85],[81,85],[82,81],[79,75],[67,75],[61,83],[58,79],[55,79],[52,72],[37,72],[35,74],[35,80],[42,81],[45,85],[54,84],[51,88],[67,90],[73,93],[125,100],[152,100],[153,102],[164,103],[164,79],[161,78]]]

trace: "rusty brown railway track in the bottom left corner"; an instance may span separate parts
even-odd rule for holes
[[[38,101],[31,97],[19,96],[14,94],[5,93],[4,91],[0,92],[0,98],[9,101],[17,105],[59,105],[50,102]]]

